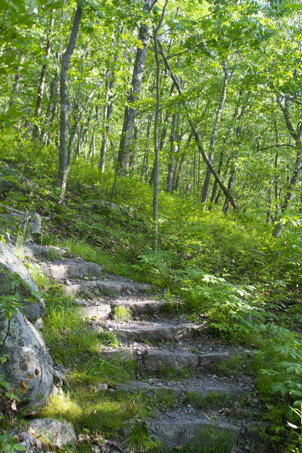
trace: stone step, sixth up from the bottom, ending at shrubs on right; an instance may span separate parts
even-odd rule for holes
[[[80,292],[99,292],[99,293],[122,293],[124,291],[129,291],[130,293],[137,293],[138,291],[143,291],[144,289],[149,289],[149,285],[142,283],[130,283],[126,281],[119,280],[89,280],[81,281],[77,283],[72,283],[69,285],[64,285],[63,290],[67,294],[77,294]]]

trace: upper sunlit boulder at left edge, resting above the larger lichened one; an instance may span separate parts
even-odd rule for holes
[[[34,283],[28,269],[24,264],[16,257],[13,248],[0,242],[0,294],[5,294],[10,291],[10,275],[18,274],[24,281],[24,284],[20,284],[17,288],[18,294],[22,299],[28,299],[32,296],[32,290],[38,291],[37,285]],[[45,304],[42,298],[36,302],[24,301],[24,306],[20,308],[22,313],[30,321],[36,321],[45,314]]]

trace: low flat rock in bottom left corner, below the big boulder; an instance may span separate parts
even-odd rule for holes
[[[75,443],[77,440],[76,433],[68,422],[61,422],[53,419],[34,419],[29,422],[29,431],[34,436],[43,435],[44,441],[47,439],[58,448],[65,447],[68,444]]]

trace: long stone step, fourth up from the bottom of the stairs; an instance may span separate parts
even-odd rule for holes
[[[192,324],[168,324],[162,322],[129,322],[129,323],[111,323],[111,326],[118,331],[120,337],[126,340],[168,340],[174,338],[194,337],[196,335],[207,335],[206,326],[197,326]]]

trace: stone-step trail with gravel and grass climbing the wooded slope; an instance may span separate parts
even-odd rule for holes
[[[163,293],[152,298],[149,294],[156,291],[150,285],[109,275],[102,266],[80,258],[35,261],[72,294],[87,333],[113,333],[119,338],[119,347],[101,347],[101,359],[118,354],[121,360],[137,361],[136,381],[100,388],[113,395],[122,391],[162,399],[157,413],[145,420],[148,436],[162,448],[190,444],[197,451],[212,436],[240,452],[260,441],[263,422],[253,410],[259,403],[253,378],[244,373],[243,363],[237,373],[223,372],[234,355],[240,360],[250,351],[213,336],[206,319],[182,314],[179,300],[169,300]],[[217,367],[223,363],[225,367]],[[175,404],[167,407],[163,395],[174,398]],[[134,423],[135,419],[127,420],[126,433]]]

